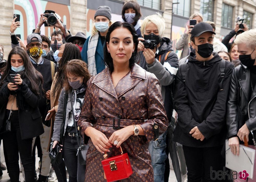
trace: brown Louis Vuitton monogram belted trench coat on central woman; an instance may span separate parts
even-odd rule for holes
[[[148,145],[155,137],[154,123],[158,125],[159,135],[168,126],[158,79],[154,74],[134,64],[115,88],[108,68],[92,77],[87,86],[85,102],[78,121],[81,133],[84,133],[87,127],[93,126],[109,138],[118,130],[119,125],[123,128],[139,124],[146,136],[132,135],[121,144],[123,152],[129,156],[133,174],[119,181],[154,182]],[[85,134],[82,136],[87,144],[89,138]],[[109,157],[120,155],[119,148],[114,145],[109,150]],[[101,165],[103,154],[95,148],[90,139],[86,157],[85,181],[105,182]]]

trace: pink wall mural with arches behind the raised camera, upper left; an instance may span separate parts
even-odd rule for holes
[[[21,40],[32,33],[39,22],[40,14],[45,10],[55,11],[61,17],[60,20],[67,25],[67,29],[70,29],[70,6],[42,0],[14,0],[14,13],[20,15],[21,22],[15,33],[21,35]],[[53,31],[53,27],[41,28],[41,34],[49,37]],[[26,44],[26,40],[24,42]]]

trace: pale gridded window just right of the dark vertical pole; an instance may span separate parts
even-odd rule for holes
[[[190,15],[190,0],[173,0],[173,14],[188,17]]]

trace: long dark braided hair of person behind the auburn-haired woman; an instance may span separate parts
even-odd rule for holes
[[[53,87],[52,96],[56,94],[56,96],[59,97],[61,89],[65,82],[64,67],[68,61],[74,60],[74,59],[82,60],[81,52],[75,44],[72,44],[70,42],[66,43],[63,54],[62,54],[62,58],[59,61],[59,68],[56,75],[56,81]]]

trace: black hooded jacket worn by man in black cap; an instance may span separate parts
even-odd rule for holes
[[[213,53],[209,61],[197,61],[195,54],[188,57],[185,82],[182,80],[181,66],[174,83],[174,109],[178,122],[173,140],[185,146],[212,147],[222,145],[226,139],[226,101],[234,65],[225,62],[223,89],[220,91],[220,61]],[[195,126],[203,134],[203,141],[189,134]]]

